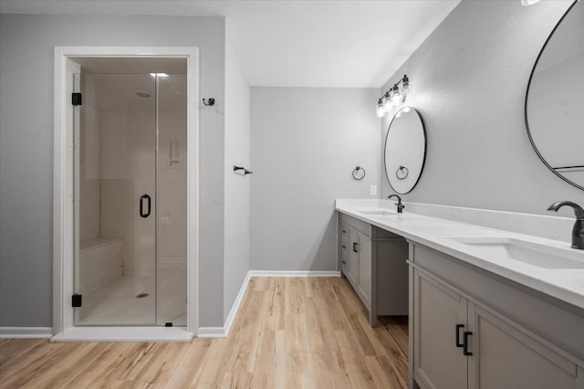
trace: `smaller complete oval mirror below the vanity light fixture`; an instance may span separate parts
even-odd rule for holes
[[[404,107],[393,116],[384,154],[391,189],[400,195],[412,191],[420,180],[426,158],[426,132],[417,110]]]

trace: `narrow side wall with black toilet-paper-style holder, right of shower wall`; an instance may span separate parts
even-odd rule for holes
[[[224,320],[249,271],[249,204],[252,175],[234,173],[234,165],[250,169],[250,88],[235,54],[234,31],[225,20],[225,242]]]

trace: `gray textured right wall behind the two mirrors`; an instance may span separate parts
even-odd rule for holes
[[[539,161],[524,121],[531,68],[570,3],[464,0],[383,86],[407,74],[426,125],[425,168],[405,200],[544,215],[556,200],[584,205]]]

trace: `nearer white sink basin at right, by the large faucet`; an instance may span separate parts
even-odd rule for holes
[[[507,237],[453,237],[459,243],[480,248],[493,258],[509,258],[538,268],[584,268],[584,252],[551,247]]]

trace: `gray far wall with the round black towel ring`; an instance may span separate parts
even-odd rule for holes
[[[252,88],[251,268],[336,270],[336,198],[380,184],[377,89]],[[365,168],[362,181],[351,178]]]

